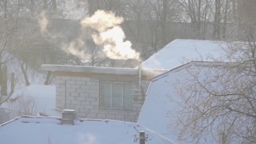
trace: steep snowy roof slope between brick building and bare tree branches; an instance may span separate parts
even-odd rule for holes
[[[178,104],[171,101],[171,99],[179,101],[178,96],[175,95],[174,85],[177,84],[177,80],[182,82],[189,79],[185,68],[213,63],[220,64],[220,62],[190,61],[153,77],[137,123],[156,133],[165,134],[165,137],[175,142],[184,143],[184,141],[179,141],[177,133],[170,129],[170,125],[174,124],[173,120],[176,117],[175,111],[179,109]]]

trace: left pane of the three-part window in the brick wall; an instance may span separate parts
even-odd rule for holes
[[[112,84],[101,82],[101,107],[110,108],[112,97]]]

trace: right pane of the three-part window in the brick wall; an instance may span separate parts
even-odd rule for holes
[[[124,109],[132,108],[132,83],[124,83]]]

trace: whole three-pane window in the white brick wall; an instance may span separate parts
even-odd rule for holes
[[[100,107],[105,109],[132,109],[131,82],[101,81]]]

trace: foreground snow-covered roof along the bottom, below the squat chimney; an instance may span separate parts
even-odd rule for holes
[[[139,131],[148,134],[147,144],[172,144],[137,123],[75,119],[74,125],[62,125],[61,118],[32,116],[0,125],[0,140],[3,144],[139,144],[133,142]]]

